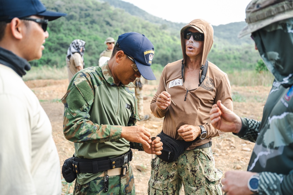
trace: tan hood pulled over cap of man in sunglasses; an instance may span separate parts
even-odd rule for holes
[[[187,30],[188,28],[194,28],[204,34],[204,44],[203,44],[201,64],[205,65],[205,61],[207,60],[207,56],[214,42],[214,29],[209,22],[202,19],[192,20],[189,24],[185,25],[181,29],[180,37],[181,37],[181,47],[182,47],[182,54],[183,54],[183,64],[185,64],[185,60],[186,60],[185,41],[183,38],[183,32]]]

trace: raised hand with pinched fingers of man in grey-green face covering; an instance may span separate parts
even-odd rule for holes
[[[242,127],[241,118],[226,108],[221,100],[212,106],[209,114],[213,127],[221,131],[238,133]]]

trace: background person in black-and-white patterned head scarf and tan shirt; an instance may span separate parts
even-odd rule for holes
[[[66,65],[68,70],[68,80],[79,70],[84,68],[84,50],[86,42],[81,39],[75,39],[69,45],[66,56]]]

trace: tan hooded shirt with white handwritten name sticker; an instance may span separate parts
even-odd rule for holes
[[[181,73],[182,63],[185,64],[185,42],[183,38],[183,32],[189,27],[199,28],[204,33],[204,45],[202,52],[201,64],[205,65],[207,56],[213,44],[214,30],[210,23],[205,20],[196,19],[190,22],[188,25],[181,29],[181,46],[184,58],[173,63],[167,64],[162,72],[159,87],[151,101],[151,111],[158,118],[164,118],[163,132],[175,139],[183,140],[178,135],[178,129],[182,125],[203,125],[207,131],[207,138],[193,142],[188,149],[193,149],[196,146],[200,146],[211,141],[212,137],[219,136],[224,132],[215,129],[210,123],[209,111],[212,105],[218,100],[230,110],[233,110],[231,87],[228,80],[228,76],[216,65],[208,62],[207,74],[203,82],[197,89],[186,89]],[[182,62],[183,61],[183,62]],[[199,79],[202,76],[202,70],[200,75],[194,75],[194,79]],[[158,95],[168,91],[171,94],[171,105],[166,110],[161,110],[156,105],[156,99]]]

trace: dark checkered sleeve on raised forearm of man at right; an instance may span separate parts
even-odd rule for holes
[[[248,119],[248,118],[241,118],[242,121],[242,128],[237,135],[241,139],[245,139],[251,142],[256,141],[258,136],[258,131],[260,127],[260,121]]]

